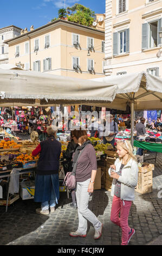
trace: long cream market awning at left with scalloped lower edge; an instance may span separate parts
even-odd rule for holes
[[[117,86],[98,81],[42,74],[34,71],[0,69],[0,104],[54,105],[108,103]]]

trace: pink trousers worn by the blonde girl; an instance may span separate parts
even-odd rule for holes
[[[128,225],[128,216],[131,209],[132,201],[121,200],[119,197],[113,197],[112,210],[111,210],[111,221],[119,225],[122,229],[121,245],[128,244],[128,233],[131,231]],[[120,218],[119,218],[120,212]]]

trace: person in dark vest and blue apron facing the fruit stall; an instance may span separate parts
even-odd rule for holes
[[[55,139],[56,127],[48,126],[46,141],[38,144],[32,155],[40,154],[37,163],[35,178],[35,202],[41,202],[41,208],[36,209],[37,214],[49,214],[55,211],[59,200],[59,160],[61,143]]]

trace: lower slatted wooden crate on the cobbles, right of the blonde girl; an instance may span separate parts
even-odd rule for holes
[[[138,184],[135,191],[141,194],[152,192],[152,170],[138,173]]]

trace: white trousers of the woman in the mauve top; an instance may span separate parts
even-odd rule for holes
[[[76,202],[79,217],[77,231],[83,235],[87,233],[87,221],[91,222],[96,230],[100,229],[102,225],[93,212],[88,209],[90,193],[87,190],[89,181],[90,179],[83,182],[76,182]]]

